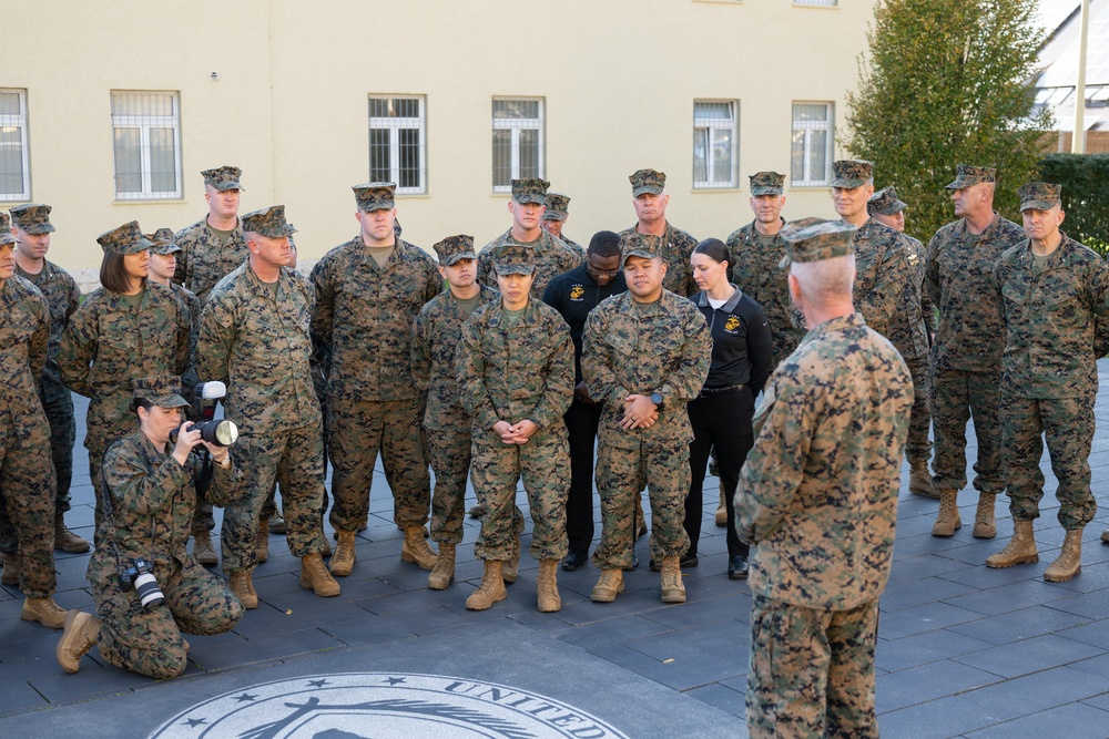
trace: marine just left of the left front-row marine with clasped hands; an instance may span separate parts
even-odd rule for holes
[[[470,471],[471,419],[459,398],[455,350],[466,319],[482,305],[499,300],[500,294],[477,281],[472,236],[445,238],[435,245],[435,252],[450,289],[431,298],[413,322],[411,377],[416,387],[427,393],[424,431],[435,473],[431,538],[439,544],[428,586],[441,591],[454,578],[455,547],[462,541],[462,501]],[[448,273],[447,268],[452,269]]]

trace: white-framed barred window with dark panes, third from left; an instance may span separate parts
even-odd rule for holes
[[[395,182],[398,195],[427,192],[426,121],[423,95],[369,96],[370,182]]]

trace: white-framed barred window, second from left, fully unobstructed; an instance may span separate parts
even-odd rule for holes
[[[112,92],[115,198],[181,197],[181,114],[175,92]]]

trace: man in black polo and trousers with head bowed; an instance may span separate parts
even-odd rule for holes
[[[593,443],[603,406],[589,397],[581,378],[581,332],[589,311],[606,298],[624,292],[628,284],[620,269],[620,237],[598,232],[589,242],[586,263],[562,273],[543,290],[543,302],[562,314],[573,340],[573,402],[562,415],[570,435],[570,494],[566,502],[566,533],[570,552],[562,569],[580,569],[589,561],[593,541]]]

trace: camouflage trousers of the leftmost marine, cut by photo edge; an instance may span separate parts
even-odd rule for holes
[[[0,504],[22,555],[19,587],[29,598],[48,597],[58,585],[54,468],[44,453],[49,443],[50,428],[44,421],[16,428],[11,412],[0,410]]]

